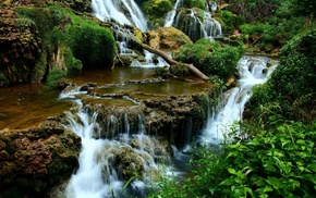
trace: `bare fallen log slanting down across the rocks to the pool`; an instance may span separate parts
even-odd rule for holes
[[[161,50],[158,49],[154,49],[150,48],[149,46],[145,45],[145,44],[141,44],[142,47],[146,50],[148,50],[151,53],[155,53],[158,57],[161,57],[168,64],[175,65],[179,64],[178,61],[174,61],[172,58],[170,58],[167,53],[165,53]],[[190,72],[192,72],[196,77],[199,77],[204,81],[208,81],[208,76],[205,75],[204,73],[202,73],[197,67],[195,67],[193,64],[187,64],[187,63],[182,63],[184,66],[186,66],[189,69]]]

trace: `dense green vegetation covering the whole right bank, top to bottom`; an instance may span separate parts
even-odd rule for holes
[[[247,49],[282,48],[280,65],[254,94],[240,124],[248,136],[197,147],[185,181],[162,178],[150,197],[313,197],[316,190],[315,2],[227,0],[227,30]],[[196,44],[196,46],[198,42]],[[183,58],[190,55],[185,53]],[[203,52],[203,48],[200,48]],[[235,132],[231,132],[233,135]],[[197,151],[197,152],[196,152]]]

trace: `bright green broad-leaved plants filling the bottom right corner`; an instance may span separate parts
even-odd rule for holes
[[[191,176],[182,185],[162,180],[151,197],[314,196],[316,123],[243,129],[256,134],[222,144],[220,149],[194,149],[198,154],[191,161]]]

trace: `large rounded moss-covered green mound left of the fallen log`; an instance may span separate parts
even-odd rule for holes
[[[75,15],[70,9],[58,4],[47,8],[22,7],[16,12],[21,21],[37,26],[42,40],[35,82],[42,78],[47,67],[47,85],[51,87],[61,77],[81,74],[83,67],[112,66],[116,50],[113,35],[93,18]]]

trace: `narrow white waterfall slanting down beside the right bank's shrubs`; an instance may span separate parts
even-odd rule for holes
[[[268,66],[270,63],[272,65]],[[236,122],[242,119],[244,107],[252,96],[253,86],[265,83],[277,64],[277,61],[263,57],[243,57],[239,61],[239,86],[224,92],[218,111],[210,113],[199,139],[202,144],[216,145],[226,139],[229,140],[228,133],[232,129],[240,132]]]

